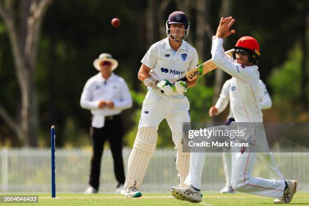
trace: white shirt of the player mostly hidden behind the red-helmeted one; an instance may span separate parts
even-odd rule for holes
[[[225,110],[225,108],[229,104],[230,101],[229,91],[232,88],[231,81],[232,79],[226,80],[221,89],[220,97],[218,98],[215,105],[215,108],[218,109],[218,114],[222,113],[223,110]],[[272,107],[272,99],[267,91],[266,85],[261,79],[259,80],[259,94],[260,94],[261,109],[262,110],[270,109]],[[229,118],[234,118],[231,108],[227,119]]]

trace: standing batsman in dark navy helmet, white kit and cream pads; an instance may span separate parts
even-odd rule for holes
[[[176,166],[183,185],[189,170],[190,153],[182,152],[182,123],[190,122],[190,105],[183,94],[191,82],[177,81],[196,68],[195,48],[184,39],[189,33],[189,22],[183,12],[173,12],[166,23],[167,38],[150,46],[141,60],[138,79],[148,88],[143,101],[138,132],[128,161],[128,174],[124,184],[126,196],[140,197],[142,184],[150,158],[155,150],[158,127],[166,119],[177,148]]]

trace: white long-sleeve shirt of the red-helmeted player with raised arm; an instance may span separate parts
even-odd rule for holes
[[[236,122],[263,122],[259,95],[260,73],[258,66],[237,64],[224,53],[223,39],[213,38],[212,60],[232,76],[229,98]]]

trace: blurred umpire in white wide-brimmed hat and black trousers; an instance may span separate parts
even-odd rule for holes
[[[86,194],[97,193],[99,187],[101,157],[104,143],[109,140],[114,159],[114,172],[118,181],[117,193],[124,193],[125,174],[122,159],[123,126],[120,113],[132,107],[132,97],[125,80],[113,71],[118,61],[112,55],[103,53],[93,61],[95,69],[100,71],[85,84],[80,106],[91,110],[92,122],[90,136],[92,140],[92,158],[89,187]]]

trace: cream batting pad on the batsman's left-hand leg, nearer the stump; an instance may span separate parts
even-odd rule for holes
[[[139,188],[145,176],[150,158],[155,151],[158,132],[151,127],[138,130],[128,161],[128,174],[124,188]]]

